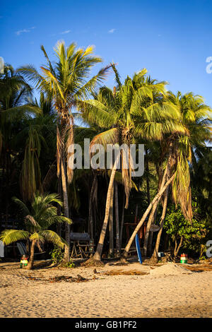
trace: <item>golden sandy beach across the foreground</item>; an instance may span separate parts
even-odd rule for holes
[[[212,271],[167,275],[156,268],[130,263],[96,273],[92,267],[27,271],[0,263],[0,317],[212,317]],[[67,279],[77,275],[85,280]]]

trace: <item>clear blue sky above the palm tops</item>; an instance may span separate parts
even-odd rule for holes
[[[212,107],[211,0],[1,1],[0,57],[14,68],[54,59],[57,40],[95,45],[104,62],[117,63],[124,79],[143,67],[169,90],[203,95]],[[99,67],[96,67],[97,71]],[[114,85],[111,75],[106,82]]]

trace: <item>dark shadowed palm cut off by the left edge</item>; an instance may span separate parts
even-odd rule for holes
[[[23,76],[11,65],[4,66],[4,73],[0,73],[0,167],[2,169],[1,206],[5,208],[6,220],[9,192],[16,172],[14,157],[19,150],[16,150],[13,143],[23,119],[30,114],[40,112],[35,106],[25,105],[25,98],[30,97],[31,93],[32,89]]]

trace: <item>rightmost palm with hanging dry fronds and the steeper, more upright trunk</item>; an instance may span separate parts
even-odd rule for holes
[[[170,91],[167,94],[168,99],[179,109],[182,116],[182,124],[187,129],[187,136],[178,134],[175,140],[175,148],[179,150],[187,150],[187,160],[190,165],[196,165],[195,150],[199,148],[206,148],[206,142],[211,140],[211,108],[204,104],[203,97],[193,95],[193,93],[178,92],[174,95]],[[177,146],[178,145],[178,146]],[[179,152],[178,152],[179,153]],[[179,185],[179,184],[183,184]],[[160,237],[163,230],[163,223],[165,221],[165,212],[167,208],[168,188],[165,191],[165,198],[163,202],[163,213],[160,218],[160,230],[156,239],[153,259],[157,259],[158,249],[160,245]],[[184,217],[191,220],[192,218],[192,197],[190,188],[190,169],[186,162],[183,172],[179,175],[179,182],[173,183],[172,198],[175,204],[179,203],[184,213]]]

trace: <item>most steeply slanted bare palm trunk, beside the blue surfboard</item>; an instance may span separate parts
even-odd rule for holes
[[[170,183],[175,179],[175,174],[176,172],[172,175],[172,177],[166,182],[166,184],[163,186],[163,188],[160,189],[160,191],[158,192],[158,194],[155,196],[155,198],[153,198],[153,201],[151,201],[150,205],[148,206],[148,208],[146,209],[146,212],[143,214],[143,217],[141,218],[139,224],[136,226],[134,232],[132,233],[129,242],[126,244],[126,247],[124,249],[124,254],[123,254],[123,258],[126,259],[129,253],[129,249],[131,247],[132,242],[134,241],[134,238],[136,237],[137,232],[139,232],[141,226],[143,225],[144,221],[146,220],[146,217],[148,216],[148,214],[151,211],[151,208],[153,207],[155,201],[158,201],[158,198],[160,198],[165,189],[167,189],[167,186],[170,185]]]

